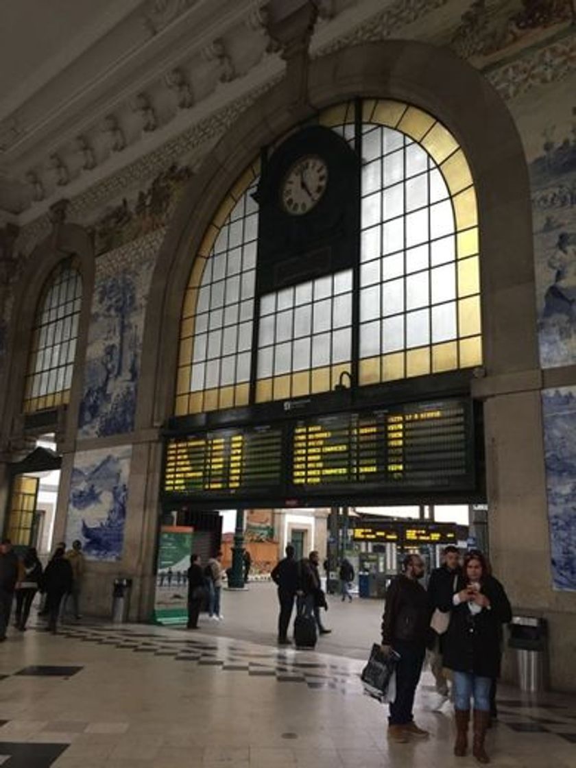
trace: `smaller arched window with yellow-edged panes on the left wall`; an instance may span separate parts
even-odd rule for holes
[[[38,301],[26,372],[25,413],[68,403],[81,302],[78,260],[71,257],[51,272]]]

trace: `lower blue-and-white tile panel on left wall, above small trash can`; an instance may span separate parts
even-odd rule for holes
[[[122,556],[132,449],[78,452],[74,457],[66,541],[79,539],[90,560]]]

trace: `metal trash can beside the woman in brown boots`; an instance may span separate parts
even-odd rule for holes
[[[508,647],[515,650],[518,686],[528,694],[546,689],[548,627],[545,619],[513,616]]]

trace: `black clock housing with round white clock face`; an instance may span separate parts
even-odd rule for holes
[[[359,247],[359,160],[348,142],[313,125],[263,153],[257,293],[353,266]]]

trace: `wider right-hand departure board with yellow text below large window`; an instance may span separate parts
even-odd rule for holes
[[[306,419],[293,433],[293,484],[443,488],[467,478],[460,401]]]

